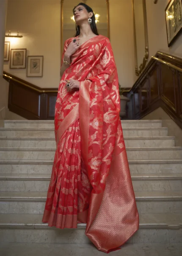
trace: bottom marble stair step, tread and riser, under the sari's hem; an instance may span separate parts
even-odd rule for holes
[[[41,214],[1,214],[0,237],[2,242],[24,243],[91,243],[85,236],[85,224],[77,229],[60,230],[41,223]],[[168,234],[166,236],[166,234]],[[46,239],[45,239],[46,238]],[[144,241],[143,241],[144,240]],[[148,241],[147,241],[148,240]],[[182,240],[181,214],[141,214],[137,233],[128,243],[164,242]]]

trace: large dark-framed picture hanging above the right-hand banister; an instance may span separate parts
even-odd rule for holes
[[[168,47],[182,31],[182,0],[171,0],[165,8]]]

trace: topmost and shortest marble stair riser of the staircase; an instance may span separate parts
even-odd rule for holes
[[[160,128],[162,127],[162,122],[142,122],[142,121],[136,121],[136,122],[126,122],[121,121],[122,128]],[[39,123],[20,123],[20,122],[11,122],[6,123],[5,122],[5,128],[43,128],[43,129],[54,129],[54,122],[51,123],[44,123],[39,121]]]

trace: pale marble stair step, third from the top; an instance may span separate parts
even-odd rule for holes
[[[126,147],[174,147],[175,137],[125,137]],[[55,148],[55,137],[0,137],[0,148]]]

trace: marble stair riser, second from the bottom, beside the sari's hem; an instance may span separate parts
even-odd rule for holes
[[[0,213],[43,214],[45,202],[0,202]],[[182,213],[182,201],[137,202],[140,213]]]

